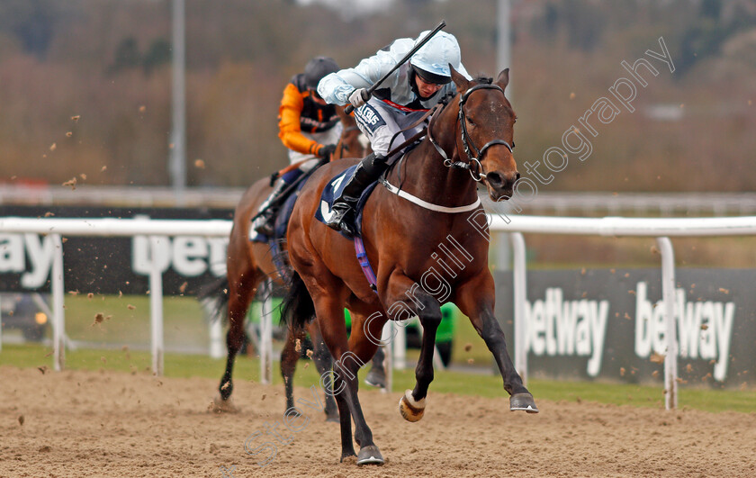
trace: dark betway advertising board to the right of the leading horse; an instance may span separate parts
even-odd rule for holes
[[[756,270],[675,272],[683,383],[756,383]],[[513,347],[512,275],[497,273],[497,317]],[[667,353],[661,269],[527,274],[531,377],[663,381]]]

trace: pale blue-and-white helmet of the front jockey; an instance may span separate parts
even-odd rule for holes
[[[425,38],[430,31],[420,33],[417,44]],[[446,85],[452,81],[452,72],[449,70],[449,64],[455,69],[460,69],[461,54],[459,43],[451,33],[437,32],[428,43],[422,46],[412,58],[410,65],[419,77],[428,83],[437,85]]]

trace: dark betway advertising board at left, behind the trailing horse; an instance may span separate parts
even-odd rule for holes
[[[221,209],[45,207],[0,205],[0,216],[55,218],[232,219]],[[64,285],[79,293],[147,293],[149,239],[64,237]],[[166,295],[193,295],[226,272],[229,239],[176,236],[160,241],[157,266]],[[0,292],[49,292],[53,242],[38,234],[0,231]]]

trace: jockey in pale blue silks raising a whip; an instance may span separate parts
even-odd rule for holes
[[[318,93],[330,104],[352,104],[359,129],[370,140],[373,153],[357,166],[341,195],[333,204],[328,226],[354,236],[356,204],[365,187],[377,180],[402,152],[387,158],[387,153],[422,130],[420,124],[394,135],[417,122],[428,109],[446,94],[455,94],[449,65],[471,79],[461,61],[455,36],[437,32],[392,76],[378,86],[372,96],[367,88],[386,75],[428,32],[418,39],[401,38],[363,59],[355,68],[342,69],[320,80]]]

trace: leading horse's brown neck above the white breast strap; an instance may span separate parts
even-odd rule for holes
[[[437,126],[434,127],[436,140]],[[440,144],[450,158],[456,155],[454,141]],[[399,167],[394,168],[390,180],[401,181],[401,184],[396,185],[404,191],[439,206],[464,206],[477,198],[477,185],[470,173],[466,169],[444,166],[444,158],[438,154],[428,137],[410,151]]]

